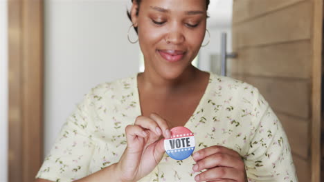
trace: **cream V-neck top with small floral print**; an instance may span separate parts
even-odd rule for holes
[[[125,127],[141,115],[136,78],[93,88],[63,125],[36,177],[75,181],[118,162],[127,145]],[[212,145],[237,151],[251,182],[298,181],[280,121],[248,83],[210,73],[185,126],[195,134],[195,151]],[[194,163],[192,157],[176,161],[165,154],[141,181],[195,181]]]

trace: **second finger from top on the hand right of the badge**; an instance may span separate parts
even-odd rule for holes
[[[238,170],[244,169],[244,163],[242,159],[237,159],[229,154],[215,153],[198,161],[192,167],[192,170],[198,172],[204,169],[215,168],[217,166],[236,168]]]

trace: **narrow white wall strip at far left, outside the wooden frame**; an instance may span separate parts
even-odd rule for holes
[[[0,181],[8,181],[7,1],[0,1]]]

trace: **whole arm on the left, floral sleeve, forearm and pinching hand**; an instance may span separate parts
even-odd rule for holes
[[[89,92],[69,117],[36,178],[50,181],[98,181],[107,179],[105,176],[109,179],[118,176],[123,181],[132,181],[146,176],[159,163],[165,152],[160,136],[168,137],[170,131],[165,120],[151,114],[150,117],[137,117],[134,125],[126,127],[127,148],[118,163],[91,174],[91,160],[97,145],[94,132],[98,105],[107,101],[98,99],[107,97],[100,88]]]

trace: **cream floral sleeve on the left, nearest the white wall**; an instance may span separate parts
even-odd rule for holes
[[[75,181],[88,175],[93,154],[91,137],[91,93],[78,104],[62,126],[50,154],[37,173],[36,178],[50,181]]]

